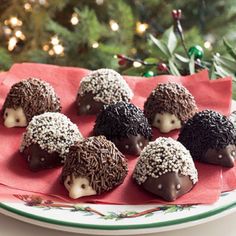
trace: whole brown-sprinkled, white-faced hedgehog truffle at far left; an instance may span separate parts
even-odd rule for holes
[[[60,112],[61,105],[50,84],[30,78],[11,87],[2,111],[6,127],[25,127],[35,115]]]

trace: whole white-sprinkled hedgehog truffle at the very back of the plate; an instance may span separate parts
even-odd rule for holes
[[[132,97],[132,90],[119,73],[111,69],[95,70],[80,82],[77,111],[79,115],[97,114],[103,105],[129,102]]]

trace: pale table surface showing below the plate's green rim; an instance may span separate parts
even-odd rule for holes
[[[182,230],[175,230],[163,233],[149,234],[149,236],[199,236],[199,235],[214,235],[222,236],[227,234],[227,236],[236,235],[236,212],[220,219],[204,223],[201,225],[189,227]],[[4,236],[73,236],[74,233],[67,233],[57,230],[51,230],[47,228],[42,228],[27,224],[8,216],[0,214],[0,235]],[[77,234],[79,235],[79,234]],[[81,234],[80,234],[81,235]],[[141,236],[141,235],[140,235]]]

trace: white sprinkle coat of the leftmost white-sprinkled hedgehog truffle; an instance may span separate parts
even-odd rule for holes
[[[49,153],[57,152],[64,162],[71,145],[83,139],[78,127],[68,117],[57,112],[34,116],[23,134],[20,152],[38,144]]]

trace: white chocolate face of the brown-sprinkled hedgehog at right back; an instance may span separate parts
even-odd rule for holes
[[[181,122],[174,114],[164,112],[155,115],[152,126],[158,128],[162,133],[168,133],[171,130],[180,129]]]

